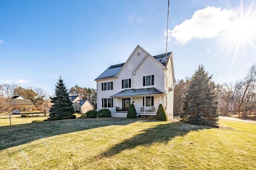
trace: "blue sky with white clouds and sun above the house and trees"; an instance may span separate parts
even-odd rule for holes
[[[137,45],[166,52],[167,11],[168,0],[0,0],[0,84],[96,88]],[[255,1],[170,0],[168,28],[176,80],[203,64],[235,82],[256,62]]]

